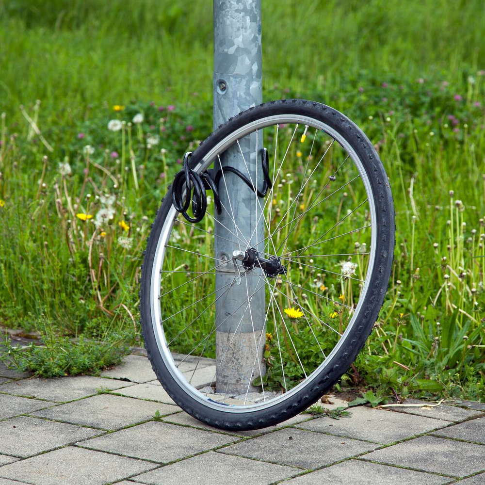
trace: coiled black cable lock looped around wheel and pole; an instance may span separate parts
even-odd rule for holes
[[[231,172],[237,175],[241,180],[253,191],[255,188],[253,183],[249,178],[247,178],[241,171],[234,167],[222,167],[216,173],[214,178],[212,175],[214,170],[206,170],[200,175],[195,172],[192,168],[189,168],[189,158],[192,152],[187,152],[183,157],[183,169],[178,172],[174,178],[174,183],[172,185],[172,203],[174,204],[175,210],[180,212],[187,221],[196,223],[200,222],[207,210],[207,195],[206,190],[211,190],[214,194],[214,205],[217,213],[222,212],[221,198],[219,196],[219,181],[223,173]],[[256,189],[258,197],[264,197],[268,190],[273,187],[269,175],[269,163],[268,163],[268,150],[262,148],[261,150],[261,168],[263,171],[263,186],[261,191]],[[194,189],[194,192],[192,192]],[[183,200],[182,193],[185,190],[185,201]],[[192,213],[194,217],[187,214],[187,210],[190,206],[190,201],[192,200]]]

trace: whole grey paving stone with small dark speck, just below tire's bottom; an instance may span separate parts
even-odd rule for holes
[[[220,451],[311,469],[373,450],[377,446],[351,438],[286,428],[236,443]]]

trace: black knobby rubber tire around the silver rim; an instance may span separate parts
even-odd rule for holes
[[[194,151],[191,157],[192,168],[215,144],[235,129],[259,118],[277,114],[301,114],[322,121],[343,135],[360,158],[371,183],[376,208],[377,241],[372,283],[358,321],[346,337],[346,341],[329,365],[306,387],[286,401],[259,411],[230,413],[208,408],[188,395],[171,376],[160,355],[152,328],[150,281],[157,241],[168,210],[172,206],[172,190],[169,188],[162,199],[162,205],[147,240],[142,267],[140,313],[145,347],[153,370],[170,397],[197,420],[226,430],[260,429],[288,420],[315,403],[340,379],[363,348],[377,320],[388,287],[394,256],[394,205],[386,171],[365,134],[346,116],[328,106],[303,99],[287,99],[271,101],[244,111],[221,125]]]

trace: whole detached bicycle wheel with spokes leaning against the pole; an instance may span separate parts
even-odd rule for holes
[[[244,156],[243,140],[254,153]],[[241,174],[222,171],[219,197],[208,192],[200,222],[174,207],[177,197],[187,206],[190,197],[180,191],[174,199],[169,189],[147,242],[140,289],[143,336],[158,379],[194,418],[227,430],[287,420],[339,380],[377,319],[394,249],[386,172],[343,114],[298,99],[261,104],[216,129],[188,164],[200,176],[238,149]],[[218,198],[221,215],[214,214]],[[200,212],[200,200],[193,204]],[[233,217],[241,204],[253,221],[250,233]],[[234,249],[234,259],[216,257],[219,242]],[[220,279],[216,289],[217,278],[226,284]],[[227,301],[242,303],[229,312]],[[193,357],[216,356],[227,319],[233,326],[215,372],[215,361]],[[202,371],[213,376],[197,380]]]

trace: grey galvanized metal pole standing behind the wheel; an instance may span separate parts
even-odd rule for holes
[[[261,75],[261,0],[214,0],[214,129],[230,117],[262,102]],[[260,187],[262,171],[256,150],[259,153],[263,146],[262,132],[241,139],[240,146],[241,150],[237,145],[228,149],[221,156],[221,163],[237,167],[245,174],[247,165],[254,185]],[[220,168],[218,160],[214,167]],[[218,297],[234,280],[233,251],[245,251],[245,241],[249,242],[249,247],[264,250],[262,244],[261,247],[257,245],[264,237],[264,221],[260,218],[254,231],[260,206],[256,194],[240,178],[226,173],[219,189],[227,210],[215,215],[221,224],[215,223],[214,226],[214,249],[216,258],[228,262],[218,269],[215,277],[215,322],[216,326],[220,325],[216,331],[216,388],[217,392],[243,394],[248,386],[249,391],[259,390],[250,383],[265,372],[261,362],[266,337],[264,278],[254,270],[242,277],[240,285],[236,283],[230,291]],[[232,221],[233,215],[237,229]],[[262,289],[256,291],[260,287]],[[248,295],[251,297],[250,308],[247,307]]]

